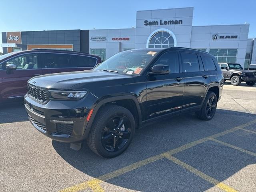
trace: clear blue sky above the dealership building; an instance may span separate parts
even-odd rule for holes
[[[132,28],[136,10],[180,7],[194,7],[193,26],[246,22],[256,37],[256,0],[1,0],[0,43],[6,31]]]

